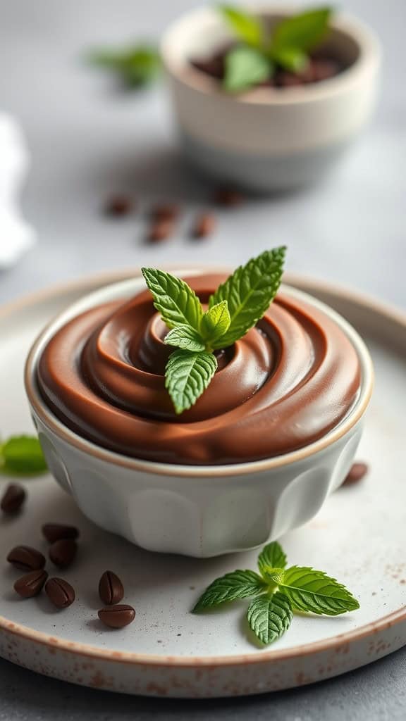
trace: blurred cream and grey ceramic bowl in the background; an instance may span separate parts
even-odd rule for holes
[[[293,9],[291,9],[293,10]],[[269,17],[286,6],[259,9]],[[328,44],[350,67],[332,79],[285,89],[222,92],[191,58],[231,39],[211,8],[186,13],[165,32],[161,53],[186,156],[218,179],[251,190],[288,190],[334,167],[376,104],[380,45],[358,19],[338,14]]]

